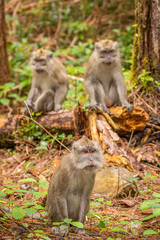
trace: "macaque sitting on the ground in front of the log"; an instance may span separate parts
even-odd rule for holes
[[[71,153],[61,160],[49,184],[47,212],[52,222],[69,218],[84,224],[95,174],[103,165],[104,155],[96,142],[83,136],[73,143]],[[84,229],[74,230],[85,234]],[[63,236],[68,234],[68,228],[53,227],[52,231]]]

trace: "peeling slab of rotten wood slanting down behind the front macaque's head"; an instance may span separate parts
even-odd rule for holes
[[[129,147],[122,141],[118,134],[112,130],[102,114],[93,113],[91,115],[92,118],[95,118],[91,124],[95,125],[90,124],[90,128],[96,128],[96,130],[94,130],[94,132],[96,132],[96,141],[104,150],[106,165],[122,166],[133,171],[133,166],[136,168],[136,159]]]

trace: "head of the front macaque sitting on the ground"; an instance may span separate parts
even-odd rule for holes
[[[97,142],[83,136],[72,145],[72,163],[76,168],[96,172],[104,165],[104,155]]]

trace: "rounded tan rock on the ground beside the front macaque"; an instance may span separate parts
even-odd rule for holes
[[[122,167],[108,167],[97,173],[93,193],[105,194],[109,198],[138,195],[132,173]]]

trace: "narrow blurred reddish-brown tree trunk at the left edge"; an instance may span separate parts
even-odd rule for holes
[[[0,85],[8,82],[10,76],[5,31],[4,0],[0,0]]]

